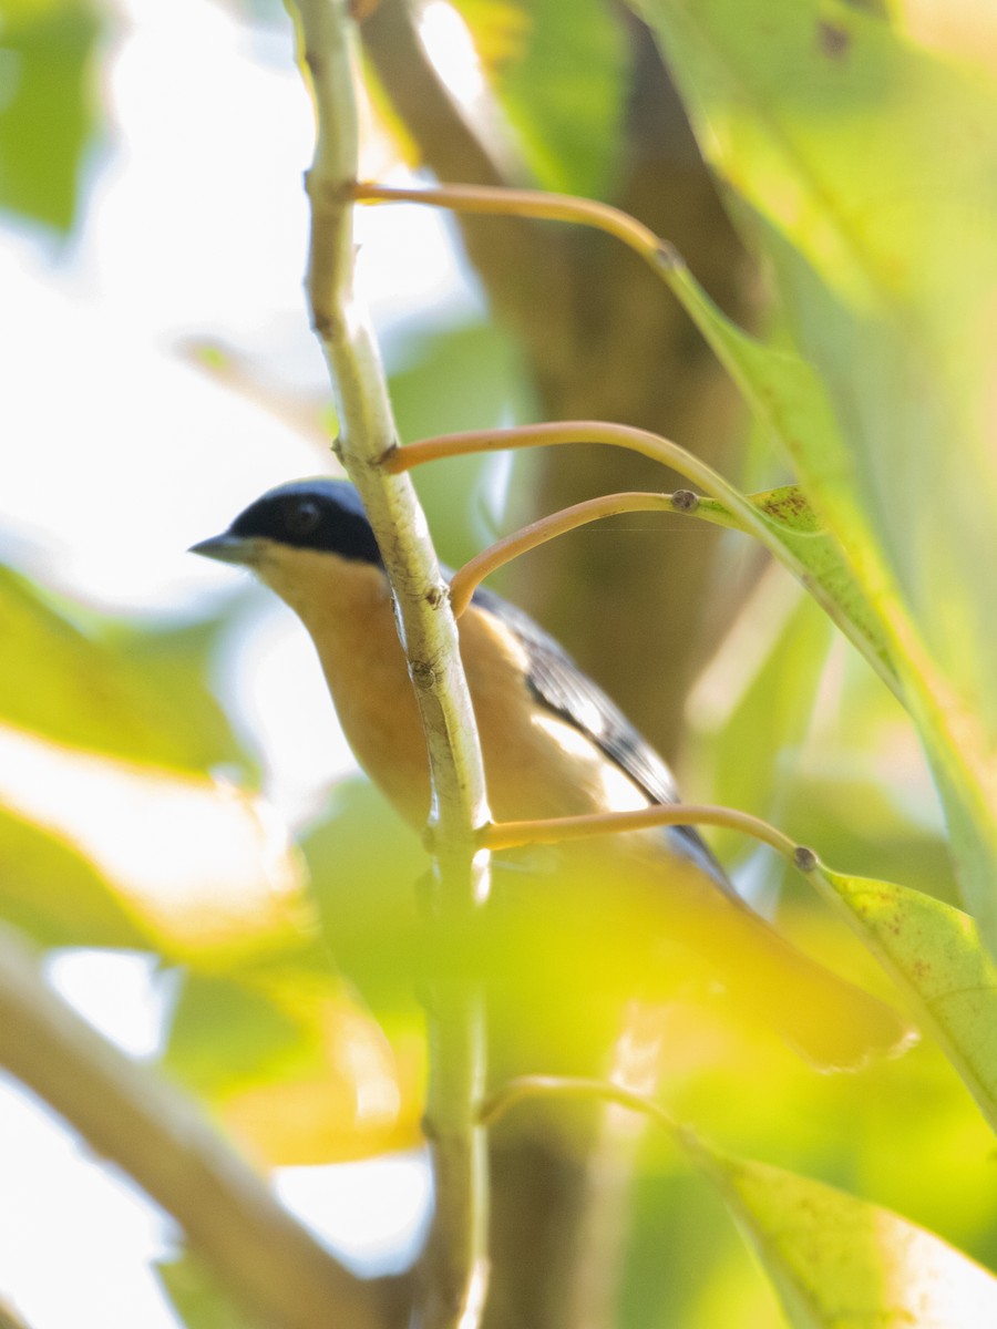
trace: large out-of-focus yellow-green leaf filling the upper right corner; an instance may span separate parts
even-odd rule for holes
[[[722,330],[687,274],[673,288],[780,435],[881,622],[994,945],[997,86],[855,5],[645,8],[823,387]]]

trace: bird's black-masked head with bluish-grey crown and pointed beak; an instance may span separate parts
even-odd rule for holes
[[[239,513],[223,536],[195,545],[194,552],[235,562],[241,561],[238,548],[253,540],[376,566],[383,562],[360,496],[346,480],[295,480],[271,489]]]

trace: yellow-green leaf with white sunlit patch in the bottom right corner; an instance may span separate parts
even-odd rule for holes
[[[879,1205],[686,1139],[758,1252],[794,1329],[980,1329],[997,1280]]]

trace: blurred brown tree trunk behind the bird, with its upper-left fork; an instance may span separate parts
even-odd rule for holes
[[[754,320],[756,280],[722,210],[667,70],[647,29],[630,37],[630,96],[611,199],[667,238],[719,306]],[[403,0],[382,0],[364,24],[368,57],[416,142],[444,181],[529,185],[508,148],[491,146],[429,64]],[[520,339],[545,419],[605,419],[674,439],[736,478],[746,420],[736,393],[670,292],[618,242],[581,227],[460,218],[467,253],[496,316]],[[618,449],[549,449],[528,462],[534,516],[614,489],[682,481]],[[674,756],[685,696],[709,649],[706,606],[718,537],[683,518],[590,528],[546,546],[513,590],[638,727]],[[623,522],[623,526],[627,524]],[[633,522],[629,524],[633,526]],[[492,1049],[492,1075],[557,1070]],[[600,1073],[602,1067],[562,1067]],[[586,1148],[598,1114],[517,1108],[493,1134],[493,1281],[488,1329],[577,1329],[572,1302],[585,1231]],[[622,1240],[622,1236],[618,1235]],[[610,1243],[613,1244],[613,1243]],[[618,1244],[618,1241],[617,1241]],[[617,1249],[602,1257],[611,1263]],[[606,1281],[609,1286],[611,1277]],[[577,1310],[577,1306],[574,1308]],[[598,1324],[597,1308],[586,1325]],[[608,1326],[606,1326],[608,1329]]]

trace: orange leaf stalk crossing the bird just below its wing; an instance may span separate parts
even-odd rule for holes
[[[736,808],[720,808],[698,803],[655,803],[634,812],[601,812],[578,817],[546,817],[542,821],[495,821],[481,833],[489,849],[514,849],[524,844],[561,844],[564,840],[586,840],[598,835],[621,835],[627,831],[649,831],[653,827],[705,825],[743,831],[778,853],[792,860],[802,870],[802,849],[782,831]]]

